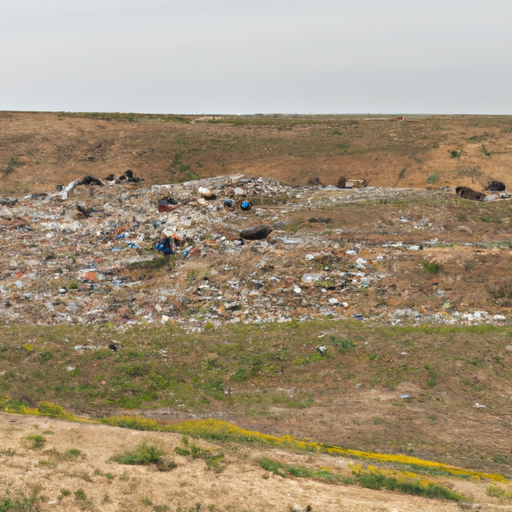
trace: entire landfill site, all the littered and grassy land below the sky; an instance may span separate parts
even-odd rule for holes
[[[0,125],[0,511],[512,510],[511,120]]]

